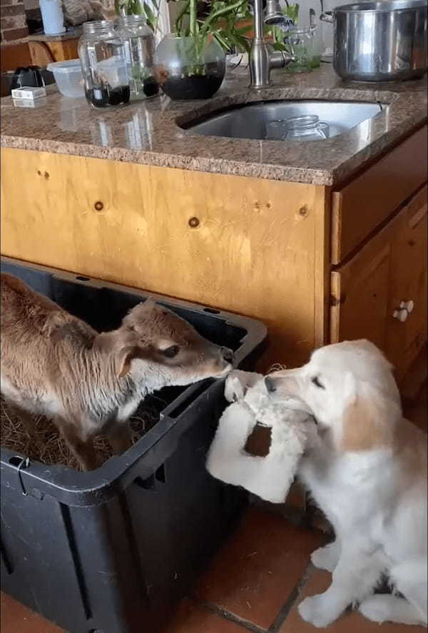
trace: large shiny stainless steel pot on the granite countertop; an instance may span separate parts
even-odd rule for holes
[[[334,26],[333,66],[342,79],[414,79],[427,71],[427,0],[337,6],[320,19]]]

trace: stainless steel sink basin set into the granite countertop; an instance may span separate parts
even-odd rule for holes
[[[387,107],[382,103],[361,101],[264,101],[245,103],[227,110],[210,113],[203,119],[189,121],[182,127],[202,136],[230,138],[267,138],[267,123],[286,118],[316,115],[329,126],[329,135],[337,136],[372,118]],[[302,141],[305,137],[288,139]]]

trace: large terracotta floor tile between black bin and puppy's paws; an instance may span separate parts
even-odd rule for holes
[[[267,629],[321,538],[253,508],[198,583],[195,596]]]

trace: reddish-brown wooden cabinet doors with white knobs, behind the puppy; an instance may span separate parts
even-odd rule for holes
[[[427,188],[377,236],[332,272],[330,340],[369,338],[406,373],[427,340]],[[414,301],[404,322],[401,301]]]

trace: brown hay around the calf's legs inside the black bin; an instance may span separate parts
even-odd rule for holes
[[[9,448],[23,457],[43,462],[46,465],[62,464],[78,469],[78,462],[68,450],[66,442],[59,435],[56,426],[44,416],[34,417],[34,432],[30,436],[20,418],[11,412],[3,398],[0,399],[0,439],[1,446]],[[156,422],[165,408],[166,402],[156,396],[148,396],[140,403],[130,423],[133,441],[137,442]],[[100,435],[94,440],[98,465],[113,455],[108,440]]]

